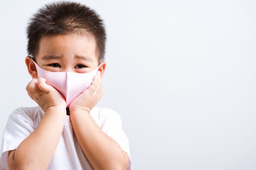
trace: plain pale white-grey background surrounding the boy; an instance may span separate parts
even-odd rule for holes
[[[49,1],[0,3],[0,132],[36,105],[25,27]],[[80,1],[107,26],[98,105],[120,114],[133,170],[256,170],[256,1]]]

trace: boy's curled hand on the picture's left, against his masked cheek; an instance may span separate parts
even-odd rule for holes
[[[66,107],[64,97],[53,86],[47,85],[43,78],[33,79],[26,86],[26,90],[30,98],[37,102],[44,112],[53,106]]]

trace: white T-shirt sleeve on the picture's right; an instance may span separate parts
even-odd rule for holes
[[[122,120],[117,112],[111,109],[101,109],[104,112],[101,129],[113,140],[115,140],[119,146],[125,151],[129,156],[129,165],[127,170],[131,170],[131,158],[129,150],[129,140],[122,128]]]

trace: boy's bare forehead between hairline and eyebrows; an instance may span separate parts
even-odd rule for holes
[[[84,55],[99,60],[96,40],[91,34],[44,35],[39,41],[35,57],[39,59],[48,54],[70,57]]]

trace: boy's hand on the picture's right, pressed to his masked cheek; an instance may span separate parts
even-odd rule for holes
[[[101,99],[102,95],[101,72],[98,71],[93,78],[92,84],[70,103],[70,113],[77,110],[87,111],[89,113]]]

